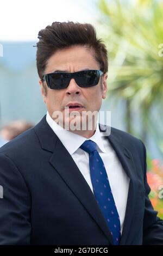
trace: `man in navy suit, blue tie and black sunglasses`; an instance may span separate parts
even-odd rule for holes
[[[0,150],[0,244],[163,245],[145,146],[114,128],[102,136],[97,123],[108,58],[95,29],[54,22],[41,30],[37,70],[47,114]]]

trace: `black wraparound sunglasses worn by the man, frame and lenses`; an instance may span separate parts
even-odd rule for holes
[[[101,70],[84,70],[74,73],[54,72],[43,76],[43,81],[47,82],[47,86],[51,89],[64,89],[68,87],[72,78],[80,87],[96,86],[99,77],[103,75]]]

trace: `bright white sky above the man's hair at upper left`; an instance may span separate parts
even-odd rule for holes
[[[96,0],[1,1],[0,42],[37,41],[40,29],[53,21],[95,23]]]

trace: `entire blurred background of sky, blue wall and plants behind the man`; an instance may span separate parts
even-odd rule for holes
[[[109,56],[101,110],[111,111],[111,126],[145,143],[150,197],[163,218],[163,1],[5,0],[0,7],[0,147],[46,114],[34,47],[40,29],[92,23]]]

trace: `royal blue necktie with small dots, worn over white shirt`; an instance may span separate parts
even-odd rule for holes
[[[85,141],[80,148],[89,153],[89,166],[93,192],[98,206],[108,224],[114,240],[114,245],[118,245],[121,239],[120,217],[117,212],[114,197],[112,196],[104,163],[97,151],[95,142],[89,139]]]

